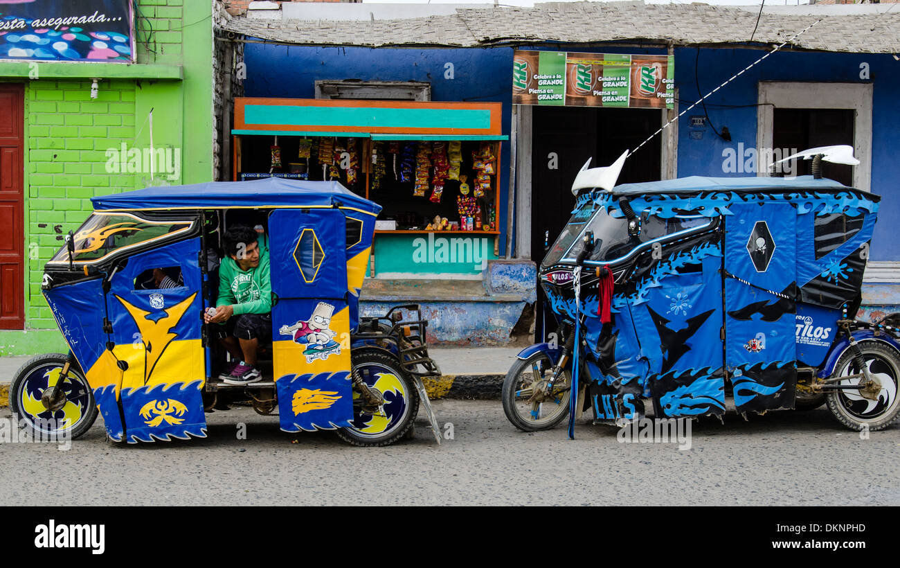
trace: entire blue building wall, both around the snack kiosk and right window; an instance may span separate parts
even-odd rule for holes
[[[547,49],[547,48],[545,48]],[[606,49],[570,51],[664,54],[665,50]],[[714,87],[759,59],[761,50],[718,49],[675,50],[675,82],[679,88],[680,110]],[[491,101],[503,104],[503,133],[509,134],[512,85],[511,48],[410,50],[365,48],[311,48],[247,44],[247,96],[312,98],[317,79],[382,81],[428,81],[435,101]],[[697,59],[698,58],[698,59]],[[698,65],[695,61],[698,60]],[[743,176],[724,174],[723,150],[756,147],[756,104],[759,81],[840,81],[860,83],[860,63],[869,63],[874,83],[871,189],[882,197],[881,222],[875,230],[873,260],[900,260],[900,246],[893,238],[892,223],[900,218],[896,195],[898,175],[891,149],[900,145],[900,62],[890,55],[779,52],[765,59],[743,76],[707,99],[707,113],[716,129],[727,126],[732,141],[725,142],[707,127],[701,140],[690,139],[689,116],[703,114],[695,107],[679,123],[679,176]],[[455,78],[444,78],[445,64],[452,62]],[[695,77],[695,69],[699,76]],[[697,79],[700,90],[698,95]],[[815,92],[810,93],[815,96]],[[509,143],[501,149],[500,173],[501,248],[505,248],[509,189]]]

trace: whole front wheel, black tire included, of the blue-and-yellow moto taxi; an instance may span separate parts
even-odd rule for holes
[[[64,406],[56,411],[49,410],[40,402],[40,395],[56,384],[58,372],[63,365],[71,362],[67,381],[63,383],[66,392]],[[56,380],[54,381],[54,372]],[[82,436],[97,419],[97,405],[94,403],[94,392],[85,379],[85,375],[74,360],[61,353],[49,353],[31,357],[15,372],[9,391],[10,408],[17,420],[23,420],[32,436],[57,439],[67,437],[76,439]],[[42,420],[54,419],[54,424],[41,423]]]

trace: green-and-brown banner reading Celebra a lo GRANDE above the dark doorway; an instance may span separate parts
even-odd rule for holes
[[[512,102],[671,109],[675,104],[674,58],[516,50]]]

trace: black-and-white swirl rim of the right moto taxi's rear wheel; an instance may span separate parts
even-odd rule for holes
[[[881,391],[878,392],[877,399],[872,401],[864,398],[860,392],[856,391],[840,391],[837,393],[837,399],[843,409],[854,419],[869,422],[878,420],[900,403],[897,400],[897,378],[900,377],[900,368],[893,360],[878,353],[863,353],[863,360],[869,368],[869,374],[878,378],[878,382],[881,383]],[[841,375],[860,373],[861,370],[852,359],[841,369]],[[853,385],[864,380],[861,377],[850,378],[844,379],[839,384]]]

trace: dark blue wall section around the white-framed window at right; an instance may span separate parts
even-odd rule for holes
[[[679,87],[680,110],[706,95],[713,88],[747,67],[764,54],[761,50],[700,50],[698,66],[696,49],[675,50],[675,82]],[[860,63],[869,63],[869,81],[860,80]],[[698,95],[694,77],[699,68]],[[881,196],[879,222],[872,239],[872,260],[900,260],[900,245],[894,235],[893,220],[900,218],[896,169],[893,149],[900,145],[900,62],[890,55],[781,52],[732,81],[707,98],[709,118],[721,131],[727,126],[732,141],[725,142],[708,127],[702,140],[691,140],[689,116],[702,115],[695,107],[679,122],[679,176],[742,176],[722,172],[723,150],[756,147],[756,104],[759,81],[836,81],[874,84],[872,97],[872,177],[871,191]],[[815,92],[809,93],[815,97]],[[729,105],[722,108],[713,105]]]

